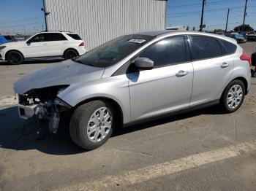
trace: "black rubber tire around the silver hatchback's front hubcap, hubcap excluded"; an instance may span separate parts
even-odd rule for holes
[[[113,122],[112,122],[112,127],[110,128],[110,132],[108,133],[107,136],[105,136],[105,138],[102,141],[99,142],[92,142],[89,140],[88,136],[87,136],[87,125],[89,122],[89,119],[91,117],[91,115],[100,107],[107,107],[113,117]],[[75,112],[81,112],[80,117],[77,118],[74,116]],[[77,128],[78,130],[78,139],[73,139],[72,140],[78,144],[78,146],[83,147],[83,149],[87,149],[87,150],[91,150],[91,149],[96,149],[97,147],[100,147],[102,144],[105,144],[106,141],[108,141],[108,139],[110,138],[110,136],[113,133],[113,129],[115,127],[115,122],[116,122],[116,115],[115,115],[115,111],[113,109],[113,106],[111,104],[109,104],[106,101],[91,101],[89,103],[83,104],[81,106],[78,106],[77,109],[75,109],[75,112],[72,114],[72,118],[71,118],[71,122],[69,125],[69,132],[72,138],[72,133],[71,130],[72,128]],[[72,122],[72,120],[78,120],[78,122],[75,122],[76,125],[72,125],[74,124],[74,122]]]

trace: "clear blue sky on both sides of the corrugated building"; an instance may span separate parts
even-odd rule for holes
[[[129,1],[129,0],[127,0]],[[225,28],[230,8],[228,29],[243,22],[245,0],[206,0],[204,22],[206,29]],[[200,25],[202,0],[168,0],[167,26]],[[256,0],[248,0],[246,23],[256,30]],[[33,33],[42,31],[45,21],[42,0],[0,0],[0,32]]]

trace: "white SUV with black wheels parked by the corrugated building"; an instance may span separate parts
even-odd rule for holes
[[[78,34],[47,31],[35,34],[20,42],[10,42],[0,47],[0,60],[20,64],[34,58],[75,58],[86,52],[85,44]]]

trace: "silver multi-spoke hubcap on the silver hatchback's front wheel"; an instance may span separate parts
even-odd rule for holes
[[[97,109],[90,117],[87,125],[87,136],[92,142],[99,142],[105,139],[110,132],[113,117],[110,109],[103,106]]]

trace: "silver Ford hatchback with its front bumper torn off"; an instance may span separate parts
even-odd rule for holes
[[[234,39],[187,31],[131,34],[15,82],[20,117],[56,133],[69,117],[75,144],[95,149],[114,128],[219,104],[235,112],[250,58]]]

